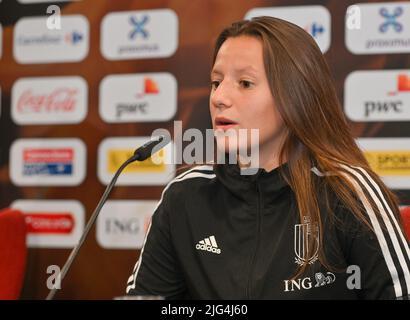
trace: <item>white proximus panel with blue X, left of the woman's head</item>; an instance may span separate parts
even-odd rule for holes
[[[178,47],[178,17],[171,9],[107,14],[101,23],[101,53],[108,60],[165,58]]]

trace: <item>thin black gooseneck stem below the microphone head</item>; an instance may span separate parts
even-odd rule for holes
[[[81,246],[83,245],[85,239],[87,238],[88,233],[91,230],[91,227],[93,226],[95,220],[98,217],[98,214],[101,211],[101,208],[103,207],[105,201],[107,200],[108,196],[111,193],[112,188],[114,187],[115,182],[117,182],[117,179],[119,177],[119,175],[121,174],[122,170],[124,170],[124,168],[126,166],[128,166],[131,162],[137,161],[137,160],[145,160],[145,159],[141,159],[143,157],[141,157],[141,155],[139,153],[134,153],[134,155],[132,157],[130,157],[127,161],[125,161],[121,167],[117,170],[117,172],[115,173],[114,177],[111,179],[110,184],[107,186],[107,188],[105,188],[104,194],[102,195],[100,202],[98,202],[97,207],[95,208],[90,220],[87,223],[87,226],[85,227],[84,233],[81,236],[80,241],[78,242],[78,244],[73,248],[73,250],[70,253],[70,256],[67,259],[67,262],[64,264],[63,269],[61,270],[61,273],[59,274],[59,276],[57,277],[57,279],[59,279],[60,284],[63,282],[65,275],[67,274],[67,271],[70,269],[71,264],[73,263],[75,257],[78,254],[78,251],[80,251]],[[53,289],[50,290],[49,294],[47,295],[46,300],[53,300],[55,294],[57,293],[57,288],[54,287]]]

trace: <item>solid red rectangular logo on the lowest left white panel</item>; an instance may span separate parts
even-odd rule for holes
[[[27,213],[27,232],[30,234],[69,234],[74,229],[71,213]]]

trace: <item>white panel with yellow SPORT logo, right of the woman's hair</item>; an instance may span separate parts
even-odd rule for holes
[[[410,138],[360,138],[357,144],[388,187],[410,188]]]

